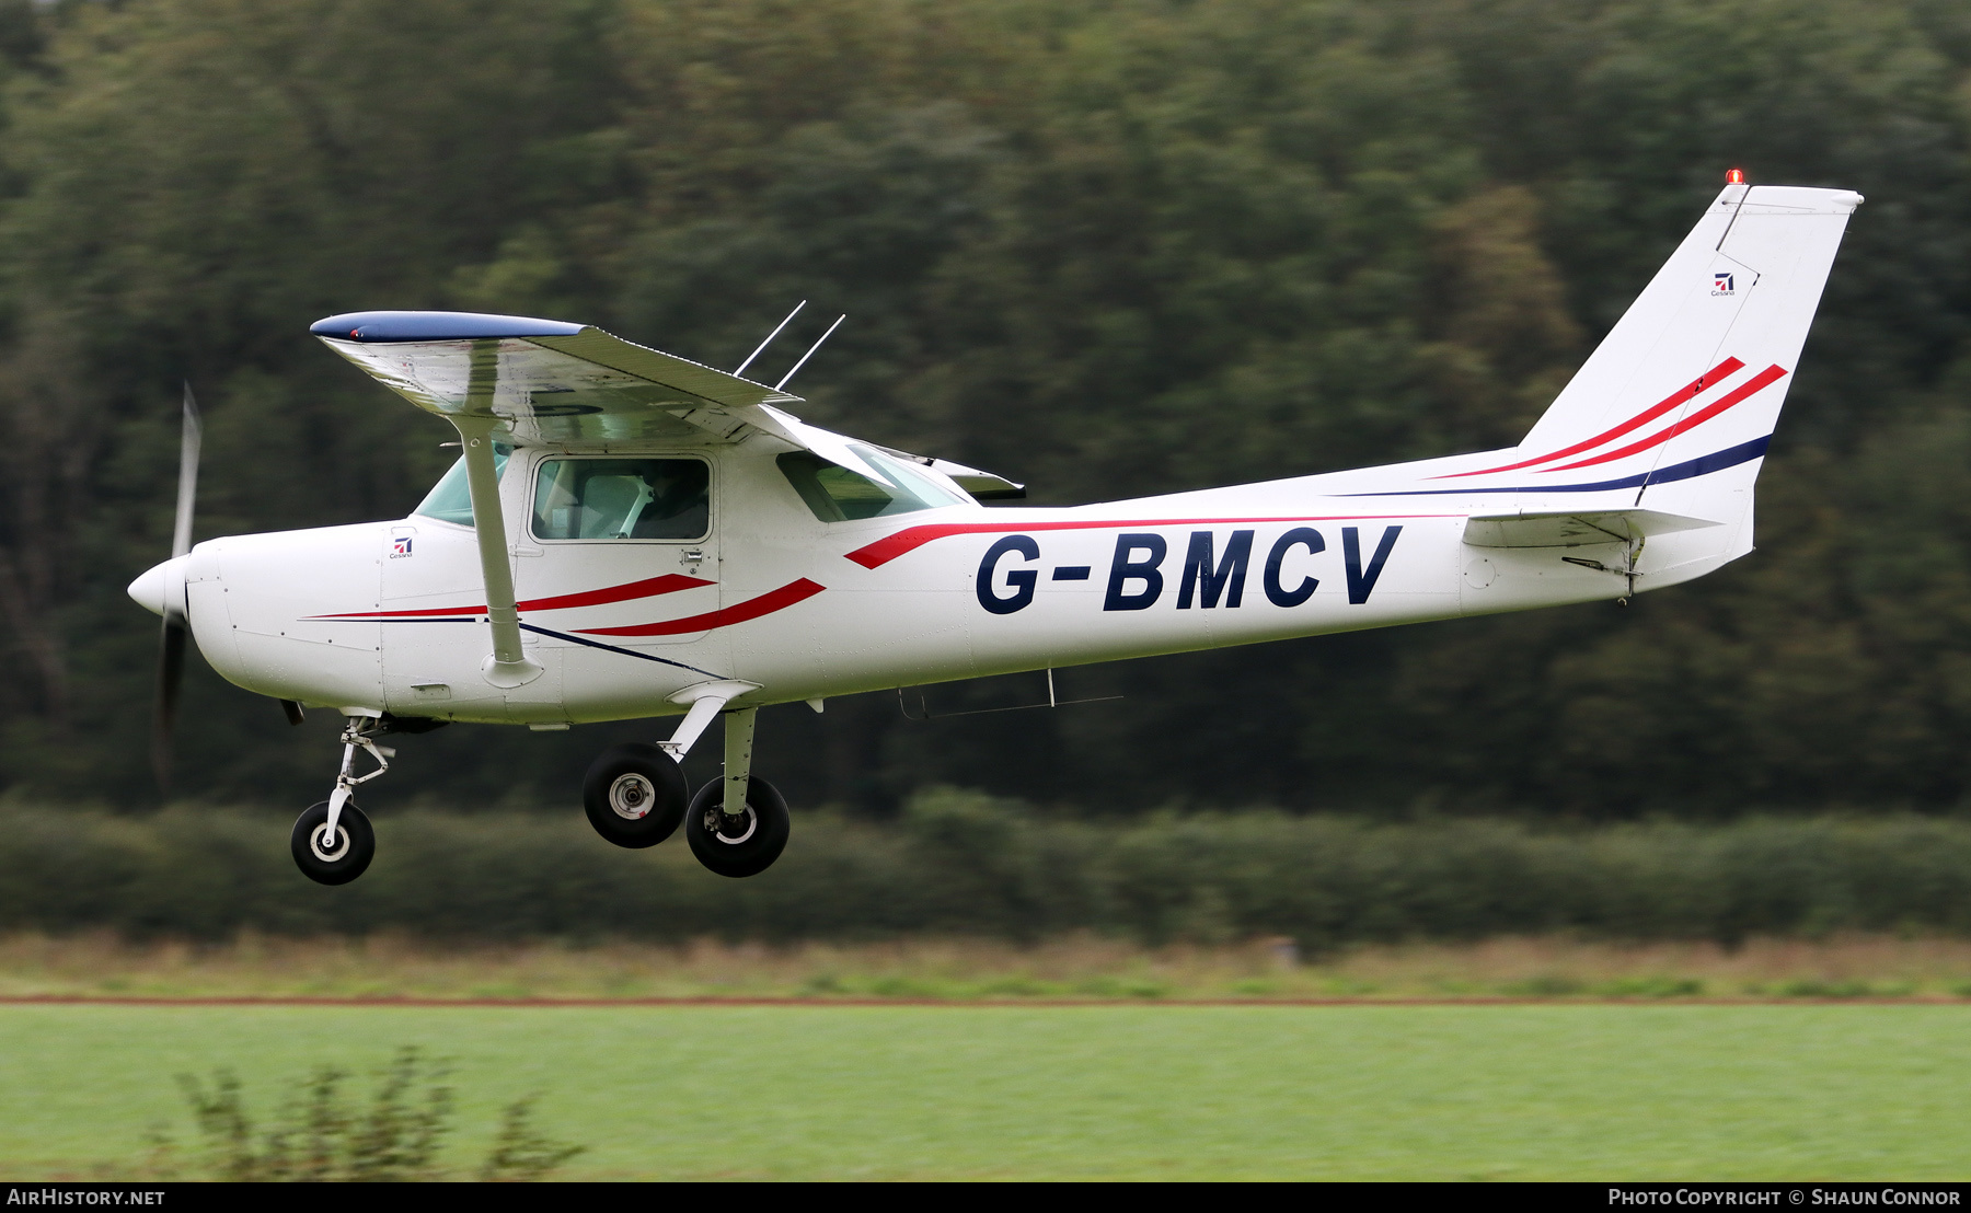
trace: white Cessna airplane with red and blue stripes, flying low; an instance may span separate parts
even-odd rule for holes
[[[1626,601],[1744,555],[1861,201],[1734,169],[1518,447],[1072,508],[987,510],[1021,486],[593,327],[335,315],[313,335],[451,421],[461,459],[410,518],[191,547],[187,400],[175,553],[130,585],[166,618],[160,723],[187,630],[290,719],[347,717],[335,790],[294,825],[302,870],[343,884],[374,855],[351,794],[388,766],[378,736],[682,715],[595,760],[589,821],[621,847],[682,821],[708,868],[751,876],[788,837],[751,774],[769,703]],[[678,762],[714,717],[723,778],[692,796]]]

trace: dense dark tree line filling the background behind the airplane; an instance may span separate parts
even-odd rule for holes
[[[449,431],[321,315],[556,315],[733,364],[810,297],[850,323],[806,415],[1100,500],[1516,441],[1731,165],[1870,199],[1756,555],[1626,612],[1068,671],[1125,699],[1058,713],[777,709],[763,770],[875,811],[928,782],[1096,811],[1971,792],[1961,4],[10,0],[0,75],[18,794],[154,799],[122,587],[170,542],[181,378],[201,536],[396,516],[442,471]],[[325,790],[327,723],[211,673],[189,703],[183,790]],[[566,801],[645,731],[447,729],[376,798]]]

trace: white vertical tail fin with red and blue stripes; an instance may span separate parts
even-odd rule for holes
[[[1431,492],[1713,522],[1656,553],[1658,585],[1750,551],[1752,480],[1861,201],[1727,185],[1526,441],[1433,477]]]

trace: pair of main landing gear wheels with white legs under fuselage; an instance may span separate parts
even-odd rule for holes
[[[757,876],[781,859],[792,821],[786,799],[753,774],[753,719],[743,707],[725,717],[725,774],[690,796],[678,764],[712,717],[751,683],[708,683],[686,691],[690,711],[670,740],[611,746],[581,780],[589,825],[617,847],[656,847],[684,823],[684,841],[719,876]]]

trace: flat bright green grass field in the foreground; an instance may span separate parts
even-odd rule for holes
[[[1959,1006],[0,1008],[0,1176],[136,1174],[235,1067],[457,1059],[581,1178],[1963,1178]]]

